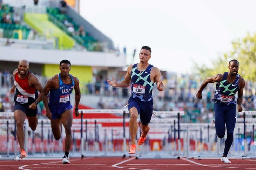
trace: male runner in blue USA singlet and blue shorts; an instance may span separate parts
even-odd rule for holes
[[[60,62],[60,73],[50,78],[43,88],[43,92],[38,99],[44,99],[50,93],[49,104],[44,102],[46,117],[51,120],[54,138],[59,140],[61,137],[62,124],[65,128],[65,154],[62,163],[70,164],[68,154],[72,142],[71,126],[73,120],[72,105],[70,104],[70,94],[75,90],[75,115],[78,117],[78,105],[81,98],[78,78],[69,74],[71,63],[68,60]],[[45,100],[43,100],[45,101]]]

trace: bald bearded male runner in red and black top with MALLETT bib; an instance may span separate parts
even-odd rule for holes
[[[21,60],[18,64],[18,69],[13,72],[14,86],[10,90],[14,93],[14,119],[17,123],[17,138],[20,144],[21,154],[20,158],[27,157],[24,150],[24,121],[27,117],[29,127],[34,131],[38,124],[37,108],[38,91],[42,92],[43,86],[38,78],[29,71],[29,63],[27,60]],[[31,108],[31,104],[34,108]]]

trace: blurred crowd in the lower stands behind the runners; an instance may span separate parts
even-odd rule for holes
[[[0,111],[12,112],[14,108],[13,94],[9,89],[13,86],[12,72],[4,70],[0,72],[0,88],[7,88],[8,91],[0,96]],[[42,84],[45,84],[47,78],[38,76]],[[208,123],[214,119],[214,102],[213,94],[216,83],[208,84],[202,92],[202,99],[195,97],[198,88],[203,80],[199,75],[177,75],[167,73],[162,77],[165,86],[164,91],[160,92],[153,89],[154,105],[156,111],[185,111],[182,122],[201,122]],[[130,97],[130,87],[113,88],[107,83],[107,77],[94,75],[90,83],[81,83],[82,96],[94,96],[97,98],[95,109],[120,109],[127,104]],[[117,79],[121,81],[122,79]],[[256,83],[247,81],[243,95],[243,110],[256,109]],[[236,96],[237,97],[237,96]],[[86,101],[83,101],[86,104]],[[88,103],[88,106],[91,106]],[[38,105],[39,117],[45,118],[45,108],[43,103]]]

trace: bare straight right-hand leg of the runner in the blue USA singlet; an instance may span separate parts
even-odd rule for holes
[[[65,128],[66,138],[65,138],[65,152],[69,152],[71,143],[72,143],[72,134],[71,134],[71,126],[73,120],[72,109],[68,109],[61,114],[61,122]]]

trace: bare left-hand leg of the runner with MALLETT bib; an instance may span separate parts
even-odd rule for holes
[[[26,119],[26,114],[21,110],[15,110],[14,111],[14,119],[17,124],[17,138],[19,141],[20,149],[24,149],[24,121]]]

